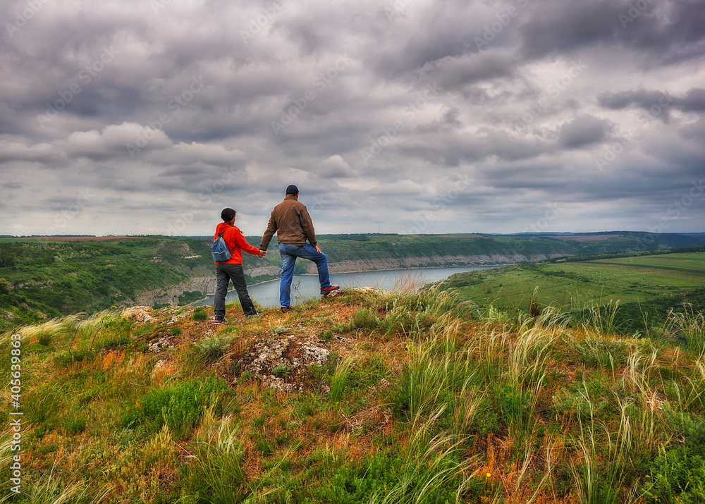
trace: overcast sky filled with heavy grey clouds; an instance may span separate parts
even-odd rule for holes
[[[705,1],[6,0],[0,234],[705,231]]]

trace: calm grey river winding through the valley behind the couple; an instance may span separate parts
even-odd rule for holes
[[[478,269],[498,268],[499,266],[464,266],[457,268],[388,269],[381,271],[361,271],[359,273],[331,273],[331,284],[343,287],[378,287],[382,290],[416,290],[427,283],[443,280],[453,273],[464,273]],[[231,284],[232,285],[232,284]],[[291,304],[300,304],[309,297],[319,296],[317,275],[295,275],[291,283]],[[247,290],[255,303],[264,308],[279,306],[279,280],[248,285]],[[226,297],[230,303],[238,300],[238,294],[231,290]],[[213,296],[191,303],[193,306],[213,305]]]

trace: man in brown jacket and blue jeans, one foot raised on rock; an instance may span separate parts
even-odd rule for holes
[[[289,185],[286,188],[284,201],[271,211],[269,224],[262,235],[259,250],[266,252],[274,233],[276,233],[279,255],[281,255],[279,305],[281,305],[282,312],[288,312],[291,309],[291,280],[294,276],[294,264],[297,257],[309,259],[316,264],[318,279],[321,283],[321,295],[338,290],[338,285],[331,285],[328,259],[317,245],[311,216],[309,216],[306,205],[299,202],[299,190],[295,185]]]

